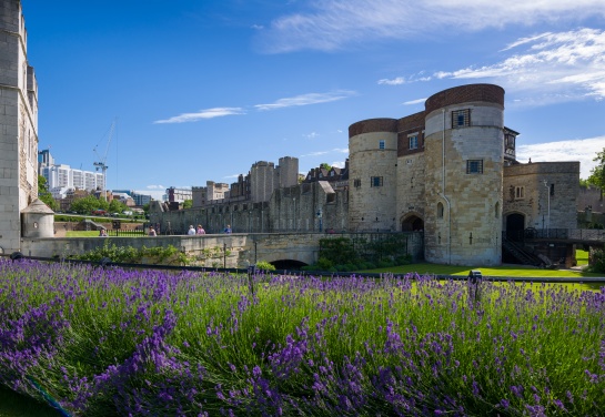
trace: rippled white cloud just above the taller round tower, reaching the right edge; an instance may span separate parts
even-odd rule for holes
[[[605,2],[603,2],[605,4]],[[562,102],[593,96],[605,99],[605,30],[578,29],[541,33],[507,45],[525,50],[501,62],[436,72],[440,79],[497,79],[507,91],[531,92],[525,104]]]

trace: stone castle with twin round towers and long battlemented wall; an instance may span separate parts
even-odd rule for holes
[[[530,227],[576,227],[579,162],[520,163],[517,135],[504,125],[501,87],[461,85],[428,98],[423,112],[353,123],[344,185],[331,171],[296,184],[263,183],[262,194],[225,197],[221,184],[212,199],[216,184],[209,182],[193,189],[193,208],[158,203],[151,218],[179,233],[193,223],[214,233],[226,224],[244,233],[422,231],[426,261],[498,265],[503,238]],[[251,172],[259,164],[270,166],[256,163]],[[255,190],[256,181],[249,174],[236,190]]]

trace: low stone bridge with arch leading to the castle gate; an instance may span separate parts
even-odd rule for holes
[[[406,254],[413,260],[423,258],[422,233],[234,233],[194,236],[170,235],[157,237],[39,237],[22,238],[21,252],[26,256],[68,257],[79,255],[107,244],[135,248],[172,245],[195,256],[198,264],[214,267],[246,267],[265,261],[279,268],[311,265],[317,262],[320,240],[330,237],[380,240],[389,235],[405,236]]]

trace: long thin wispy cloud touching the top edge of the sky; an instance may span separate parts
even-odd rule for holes
[[[577,22],[592,16],[605,16],[603,0],[467,0],[464,7],[443,0],[324,0],[274,20],[262,31],[262,41],[272,53],[332,51],[389,38],[417,39],[438,31],[452,34],[510,24]],[[423,21],[431,24],[417,24]]]

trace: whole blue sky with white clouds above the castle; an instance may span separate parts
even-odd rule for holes
[[[40,149],[90,171],[107,155],[110,189],[232,183],[281,156],[343,165],[352,123],[477,82],[505,89],[521,162],[587,177],[605,148],[603,0],[22,6]]]

